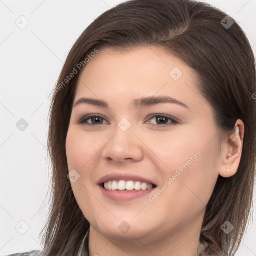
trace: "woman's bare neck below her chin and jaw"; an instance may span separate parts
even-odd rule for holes
[[[99,256],[197,256],[202,218],[188,222],[171,231],[166,228],[141,236],[136,233],[130,233],[129,236],[128,233],[123,236],[109,236],[101,234],[90,225],[89,253]]]

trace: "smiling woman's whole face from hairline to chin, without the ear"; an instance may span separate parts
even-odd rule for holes
[[[199,232],[221,164],[217,134],[180,59],[152,47],[99,50],[80,73],[66,137],[73,193],[91,229],[147,241]]]

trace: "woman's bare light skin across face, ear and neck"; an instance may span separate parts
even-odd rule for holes
[[[173,67],[183,73],[178,80],[169,75]],[[131,106],[133,99],[159,95],[178,99],[190,110],[175,103]],[[71,182],[72,190],[90,222],[90,255],[196,255],[217,177],[237,171],[243,122],[235,123],[239,135],[220,133],[211,106],[197,88],[194,70],[159,47],[99,50],[79,75],[74,103],[81,97],[103,99],[110,108],[76,105],[66,137],[69,171],[80,174]],[[170,125],[164,126],[150,117],[159,113],[177,118],[180,124],[167,119]],[[102,124],[91,124],[95,119],[78,124],[88,114],[103,115]],[[125,132],[118,127],[124,117],[131,123]],[[197,151],[200,156],[149,201]],[[97,185],[99,178],[112,172],[135,173],[158,187],[149,195],[117,202],[104,197]],[[126,233],[118,228],[123,221],[130,226]]]

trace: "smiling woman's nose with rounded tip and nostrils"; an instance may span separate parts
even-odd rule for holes
[[[108,161],[140,161],[143,158],[143,144],[133,132],[132,126],[123,131],[118,126],[115,135],[106,143],[102,156]]]

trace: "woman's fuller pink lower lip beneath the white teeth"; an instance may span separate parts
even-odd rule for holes
[[[145,196],[151,193],[154,188],[146,189],[146,190],[131,190],[131,191],[121,191],[121,190],[106,190],[101,185],[99,185],[102,193],[107,198],[114,201],[130,201],[142,196]]]

